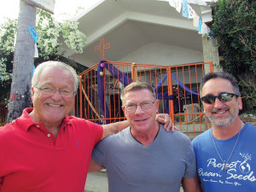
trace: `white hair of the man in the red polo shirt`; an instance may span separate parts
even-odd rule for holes
[[[65,69],[73,76],[73,87],[74,92],[78,90],[79,87],[79,76],[77,75],[76,71],[73,69],[73,67],[70,67],[69,65],[65,64],[61,61],[45,61],[36,67],[33,77],[32,77],[32,87],[36,86],[38,84],[38,79],[40,74],[42,73],[43,69],[45,67],[51,67],[51,68],[59,68],[59,69]]]

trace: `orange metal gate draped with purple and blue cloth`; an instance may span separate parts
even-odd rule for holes
[[[123,120],[121,90],[131,81],[144,81],[155,88],[159,113],[170,113],[180,131],[192,139],[209,128],[198,93],[201,77],[212,71],[212,62],[171,67],[118,61],[96,64],[79,74],[73,115],[98,124]]]

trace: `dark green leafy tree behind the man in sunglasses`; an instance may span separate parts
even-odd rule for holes
[[[256,113],[256,2],[218,0],[212,6],[212,32],[221,66],[239,79],[248,113]]]

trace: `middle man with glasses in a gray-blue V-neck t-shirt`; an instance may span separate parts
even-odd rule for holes
[[[189,137],[166,132],[155,115],[159,102],[152,87],[129,84],[121,93],[131,127],[96,145],[89,172],[107,169],[109,192],[201,191]]]

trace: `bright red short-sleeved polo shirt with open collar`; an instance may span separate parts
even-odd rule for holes
[[[84,192],[90,154],[102,126],[65,117],[58,137],[35,123],[26,108],[0,127],[1,192]]]

